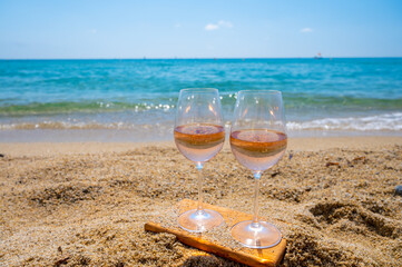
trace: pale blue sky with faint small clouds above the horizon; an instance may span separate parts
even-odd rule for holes
[[[0,0],[1,59],[402,57],[400,0]]]

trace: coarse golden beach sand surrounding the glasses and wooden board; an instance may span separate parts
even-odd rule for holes
[[[171,142],[0,144],[0,266],[242,266],[144,231],[197,197],[195,168]],[[401,184],[401,137],[291,139],[259,196],[261,216],[288,240],[282,265],[400,266]],[[228,147],[205,165],[205,201],[251,212],[252,189]]]

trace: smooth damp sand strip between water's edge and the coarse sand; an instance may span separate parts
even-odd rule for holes
[[[287,150],[321,151],[329,149],[366,149],[378,150],[394,145],[402,146],[402,137],[297,137],[290,138]],[[137,142],[0,142],[0,154],[18,156],[53,156],[73,154],[126,152],[145,147],[176,148],[174,140]],[[229,150],[226,139],[224,150]]]

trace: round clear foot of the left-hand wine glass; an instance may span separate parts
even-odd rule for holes
[[[177,218],[178,225],[192,233],[202,233],[217,227],[224,222],[222,215],[210,209],[192,209],[182,214]]]

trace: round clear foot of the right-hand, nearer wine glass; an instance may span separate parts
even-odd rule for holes
[[[266,221],[241,221],[231,229],[233,238],[249,248],[268,248],[282,240],[281,231]]]

